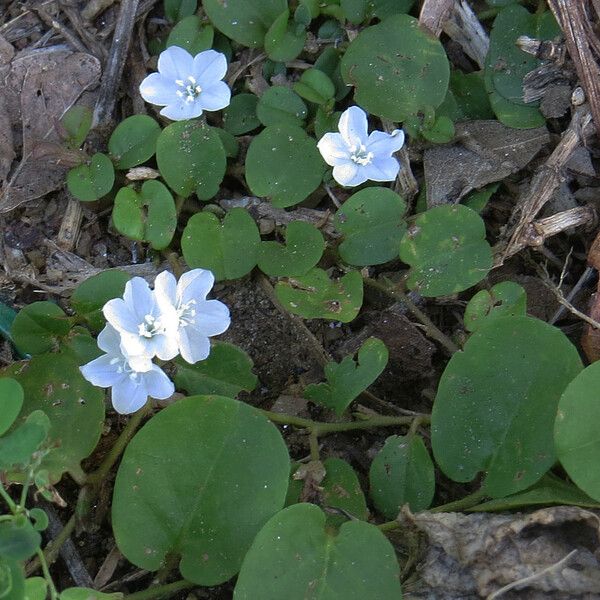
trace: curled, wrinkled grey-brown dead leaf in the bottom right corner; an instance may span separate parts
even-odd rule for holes
[[[479,600],[525,577],[539,574],[573,550],[555,570],[502,594],[502,600],[600,598],[596,556],[600,519],[577,507],[559,506],[529,515],[406,514],[429,545],[419,582],[406,600]]]

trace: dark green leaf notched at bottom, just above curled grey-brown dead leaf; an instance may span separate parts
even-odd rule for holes
[[[412,512],[429,508],[435,472],[423,440],[390,436],[371,463],[369,482],[375,508],[388,519],[395,519],[405,504]]]

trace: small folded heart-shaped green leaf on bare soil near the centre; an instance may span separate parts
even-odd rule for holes
[[[381,340],[369,338],[360,347],[356,362],[352,356],[346,356],[340,363],[327,363],[327,383],[310,384],[304,397],[341,415],[383,373],[388,356]]]

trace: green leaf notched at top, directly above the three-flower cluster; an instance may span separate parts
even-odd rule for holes
[[[260,234],[243,208],[230,210],[220,222],[209,212],[188,221],[181,237],[185,261],[192,269],[209,269],[217,280],[238,279],[256,266]]]

